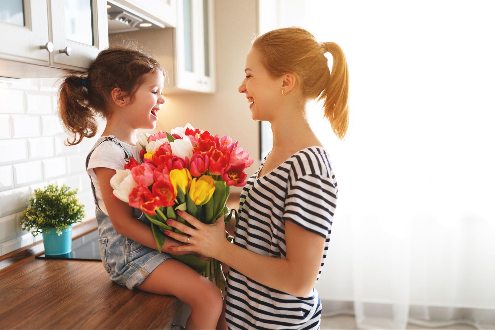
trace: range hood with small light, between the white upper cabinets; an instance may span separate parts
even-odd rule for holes
[[[106,2],[108,34],[138,30],[164,29],[165,25],[114,0]]]

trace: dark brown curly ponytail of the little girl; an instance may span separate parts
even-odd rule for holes
[[[66,145],[80,143],[84,137],[92,138],[97,133],[98,125],[95,112],[89,107],[87,78],[78,74],[63,76],[58,91],[58,111],[63,125],[72,134],[65,141]]]

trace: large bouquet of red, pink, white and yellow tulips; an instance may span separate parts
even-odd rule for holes
[[[174,219],[192,227],[177,210],[186,211],[205,224],[215,223],[222,215],[225,223],[232,217],[226,207],[230,186],[246,185],[244,170],[253,159],[229,136],[219,138],[190,124],[142,134],[137,142],[140,161],[134,158],[111,178],[114,197],[144,211],[155,237],[158,251],[164,243],[164,231],[174,231],[165,221]],[[232,210],[235,211],[235,210]],[[239,217],[236,212],[236,225]],[[232,240],[232,237],[229,237]],[[225,277],[221,264],[194,255],[172,255],[215,283],[225,296]]]

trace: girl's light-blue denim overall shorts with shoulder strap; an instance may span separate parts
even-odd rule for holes
[[[96,142],[86,157],[86,170],[88,170],[91,154],[101,143],[115,143],[119,145],[124,150],[126,161],[129,161],[133,156],[132,152],[113,135],[103,137]],[[156,249],[149,248],[117,233],[115,228],[113,228],[110,218],[99,208],[95,186],[93,185],[91,176],[90,181],[96,206],[101,262],[110,280],[120,285],[125,285],[132,290],[141,284],[159,264],[170,259],[171,256],[167,253],[160,253]],[[137,220],[149,226],[149,220],[143,211],[134,208],[133,215]],[[151,231],[151,228],[149,230]]]

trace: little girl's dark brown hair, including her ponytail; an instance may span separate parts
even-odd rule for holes
[[[112,103],[110,94],[118,88],[134,100],[135,93],[146,73],[165,73],[156,59],[135,45],[110,46],[91,62],[87,74],[70,73],[62,76],[58,91],[58,110],[61,121],[72,139],[67,145],[78,144],[84,137],[96,135],[96,116],[106,118]],[[83,79],[86,79],[83,82]],[[84,83],[84,86],[83,86]]]

